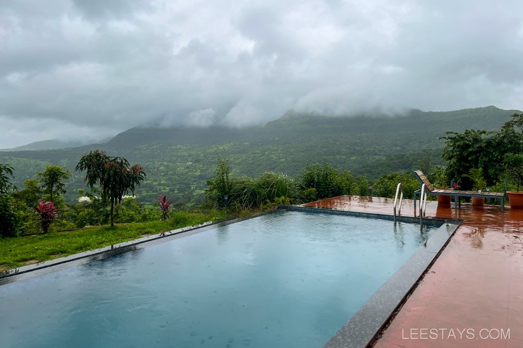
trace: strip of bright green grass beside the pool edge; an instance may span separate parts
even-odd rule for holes
[[[0,271],[222,218],[223,213],[217,210],[204,213],[180,211],[173,213],[166,222],[92,226],[69,232],[0,238]]]

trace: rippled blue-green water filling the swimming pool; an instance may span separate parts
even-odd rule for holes
[[[437,227],[283,211],[0,286],[13,347],[321,347]]]

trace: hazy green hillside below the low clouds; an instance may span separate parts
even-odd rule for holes
[[[445,131],[498,129],[517,110],[495,106],[450,112],[412,110],[404,115],[322,117],[289,112],[262,128],[135,127],[104,145],[78,148],[0,152],[0,163],[15,167],[16,185],[35,177],[46,164],[65,165],[72,171],[81,155],[95,149],[125,157],[145,166],[147,178],[137,190],[142,201],[158,193],[183,199],[189,189],[201,193],[213,176],[219,156],[230,159],[233,175],[263,171],[298,174],[307,162],[323,157],[338,169],[378,178],[383,173],[413,170],[429,157],[440,163]],[[66,199],[74,201],[84,188],[75,173],[67,183]]]

